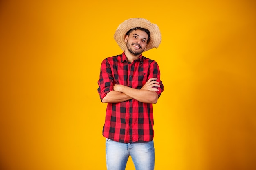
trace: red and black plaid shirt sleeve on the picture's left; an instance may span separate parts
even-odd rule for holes
[[[98,93],[102,102],[102,99],[107,95],[107,93],[113,90],[113,76],[107,59],[103,60],[101,63],[98,85]]]

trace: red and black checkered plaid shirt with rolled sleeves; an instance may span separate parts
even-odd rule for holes
[[[129,63],[124,53],[106,58],[101,63],[98,81],[100,99],[102,101],[107,93],[113,90],[114,84],[140,89],[150,78],[157,78],[160,82],[161,86],[155,87],[159,89],[156,93],[160,97],[164,86],[160,81],[157,62],[141,55]],[[152,141],[153,125],[153,108],[150,103],[142,103],[135,99],[108,103],[103,136],[123,143]]]

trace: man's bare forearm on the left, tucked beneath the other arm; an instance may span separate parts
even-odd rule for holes
[[[103,103],[118,103],[118,102],[124,102],[126,100],[130,100],[132,97],[119,92],[119,91],[110,91],[107,93],[107,95],[102,99]]]

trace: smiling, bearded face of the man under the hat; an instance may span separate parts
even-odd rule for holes
[[[125,37],[126,49],[132,55],[140,55],[147,46],[148,34],[142,30],[136,29]]]

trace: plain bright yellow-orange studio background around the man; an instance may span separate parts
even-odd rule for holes
[[[0,1],[0,169],[104,170],[101,61],[156,23],[155,170],[256,169],[254,0]],[[127,170],[134,170],[131,159]]]

